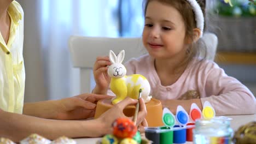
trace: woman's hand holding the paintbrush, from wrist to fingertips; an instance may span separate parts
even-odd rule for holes
[[[103,113],[99,118],[96,119],[98,123],[103,124],[104,131],[102,131],[101,135],[105,134],[111,134],[113,131],[112,123],[115,121],[115,119],[119,117],[126,117],[123,113],[123,110],[128,105],[135,105],[136,103],[139,103],[139,112],[137,116],[136,125],[142,124],[143,126],[147,126],[146,116],[147,116],[147,109],[146,105],[143,101],[143,99],[131,99],[129,97],[125,98],[123,101],[120,101],[120,103],[114,105],[111,109]],[[127,117],[126,117],[127,118]],[[132,117],[129,117],[132,119]]]

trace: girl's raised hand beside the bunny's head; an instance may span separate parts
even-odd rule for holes
[[[96,82],[96,86],[92,93],[95,94],[106,94],[109,83],[110,77],[108,76],[108,67],[112,63],[109,61],[107,56],[105,57],[97,57],[96,62],[94,64],[94,79]]]

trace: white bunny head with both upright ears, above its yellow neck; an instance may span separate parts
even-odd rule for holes
[[[124,61],[124,50],[118,53],[118,56],[115,56],[113,51],[109,51],[109,61],[112,63],[108,67],[108,75],[112,78],[121,78],[126,75],[126,68],[122,64]]]

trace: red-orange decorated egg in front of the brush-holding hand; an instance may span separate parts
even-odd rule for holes
[[[113,134],[119,138],[132,138],[137,132],[137,127],[128,118],[118,118],[113,122]]]

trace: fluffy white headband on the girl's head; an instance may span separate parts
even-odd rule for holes
[[[203,19],[202,9],[200,8],[200,6],[196,2],[196,0],[186,0],[186,1],[188,1],[190,3],[190,5],[192,6],[192,9],[195,13],[196,27],[201,30],[200,37],[202,37],[203,25],[204,25],[204,21],[205,21],[205,19]]]

